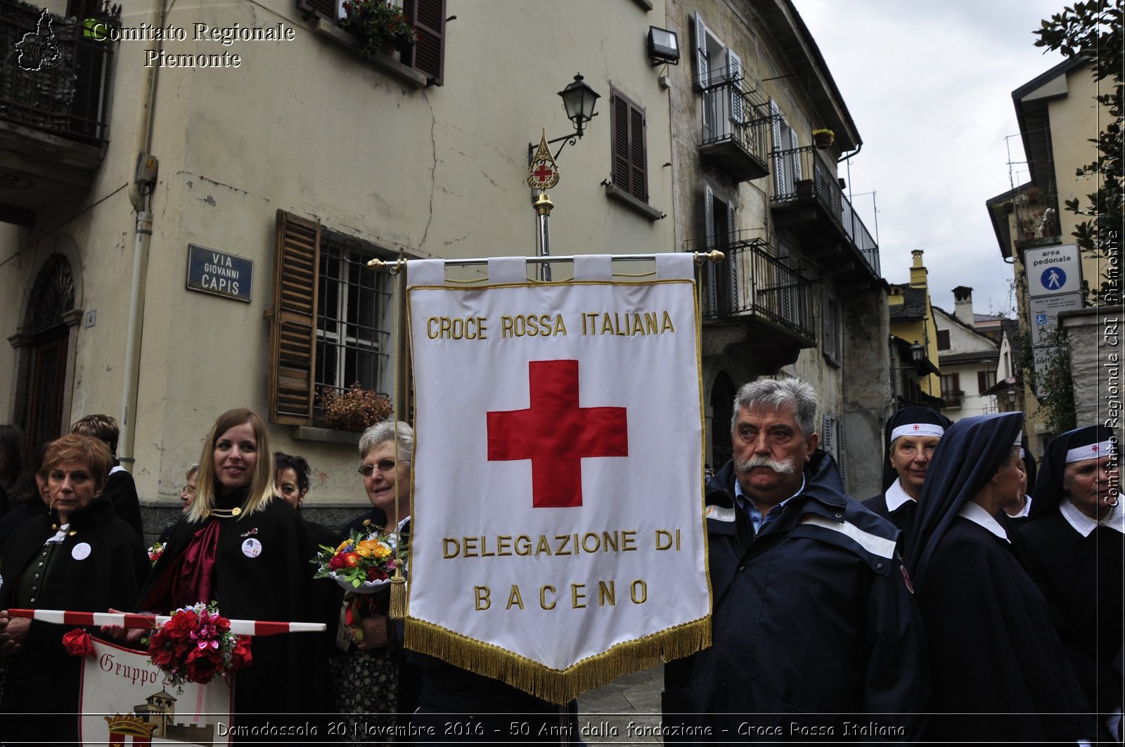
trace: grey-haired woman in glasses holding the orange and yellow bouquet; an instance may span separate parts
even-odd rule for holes
[[[371,502],[371,511],[344,526],[343,540],[356,531],[377,528],[402,528],[402,542],[407,542],[406,525],[411,513],[411,454],[414,431],[403,422],[376,423],[360,436],[359,474]],[[344,598],[338,646],[343,655],[331,663],[336,709],[343,714],[357,714],[367,724],[393,727],[396,712],[407,717],[410,701],[399,705],[402,651],[392,646],[396,638],[387,620],[389,592],[349,594]],[[354,734],[354,729],[348,730]],[[360,735],[357,740],[366,737]]]

